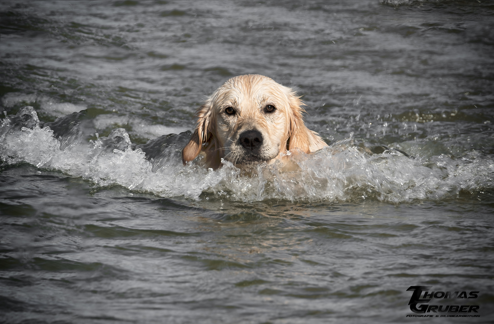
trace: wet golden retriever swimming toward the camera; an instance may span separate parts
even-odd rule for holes
[[[328,146],[305,126],[301,105],[292,89],[271,78],[255,74],[231,78],[199,108],[182,162],[203,154],[214,169],[221,158],[236,165],[272,163],[295,148],[311,153]]]

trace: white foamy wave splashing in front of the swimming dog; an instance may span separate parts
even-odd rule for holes
[[[3,163],[28,162],[90,180],[96,186],[120,185],[161,197],[200,199],[214,195],[239,201],[266,199],[354,201],[373,198],[391,203],[414,199],[440,200],[461,190],[494,188],[494,161],[479,151],[461,158],[450,155],[410,159],[396,151],[369,155],[353,139],[334,143],[315,154],[289,152],[298,167],[286,171],[281,162],[240,169],[223,161],[218,170],[182,165],[185,142],[172,143],[153,159],[133,149],[123,128],[88,144],[81,132],[55,137],[41,127],[36,111],[25,107],[1,125]]]

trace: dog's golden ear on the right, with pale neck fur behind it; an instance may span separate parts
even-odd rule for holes
[[[316,132],[305,126],[302,117],[302,113],[305,112],[302,108],[303,102],[294,91],[290,91],[288,101],[291,111],[288,117],[290,126],[288,129],[287,150],[298,148],[304,153],[311,153],[328,146]]]

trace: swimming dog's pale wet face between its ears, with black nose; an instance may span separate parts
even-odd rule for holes
[[[232,81],[211,98],[224,159],[246,163],[276,158],[288,139],[288,88],[268,78]]]

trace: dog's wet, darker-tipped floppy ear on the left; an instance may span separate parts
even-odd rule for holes
[[[203,144],[211,138],[211,131],[209,130],[211,116],[212,112],[209,103],[202,105],[197,111],[196,117],[198,120],[196,130],[192,134],[189,143],[182,150],[182,162],[184,164],[194,160],[201,152]]]

